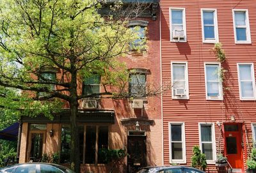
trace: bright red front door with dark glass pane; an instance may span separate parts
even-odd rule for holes
[[[225,154],[233,169],[243,170],[241,124],[224,124]],[[239,171],[238,171],[239,172]]]

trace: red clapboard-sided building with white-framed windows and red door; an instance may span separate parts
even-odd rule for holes
[[[209,170],[223,153],[244,172],[256,130],[255,1],[160,1],[164,164],[191,164],[193,146]],[[225,59],[214,47],[221,43]]]

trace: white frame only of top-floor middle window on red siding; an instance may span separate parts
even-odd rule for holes
[[[211,11],[213,12],[213,21],[214,21],[214,39],[205,39],[204,38],[204,11]],[[217,19],[217,10],[214,8],[202,8],[201,9],[201,21],[202,21],[202,38],[203,43],[218,43],[219,42],[219,34],[218,34],[218,19]]]

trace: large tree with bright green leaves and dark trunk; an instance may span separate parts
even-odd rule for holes
[[[0,107],[22,111],[23,115],[43,113],[51,117],[52,112],[60,111],[63,103],[68,103],[70,167],[76,172],[80,172],[78,101],[95,96],[79,92],[78,82],[97,73],[105,89],[99,95],[127,96],[118,89],[115,93],[108,91],[108,86],[127,81],[125,65],[118,57],[129,52],[130,43],[138,39],[136,31],[125,26],[126,18],[102,18],[97,13],[102,2],[0,1],[0,87],[12,91],[3,93],[0,89]],[[120,4],[116,7],[120,8]],[[133,48],[139,50],[143,46]],[[56,79],[49,79],[43,75],[45,71],[59,73]]]

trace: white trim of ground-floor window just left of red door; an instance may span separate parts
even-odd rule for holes
[[[198,123],[198,129],[199,129],[199,144],[200,144],[200,149],[202,151],[202,136],[201,136],[201,125],[211,125],[212,127],[212,160],[206,160],[207,163],[209,164],[215,164],[216,160],[216,140],[215,140],[215,128],[214,128],[214,123]]]

